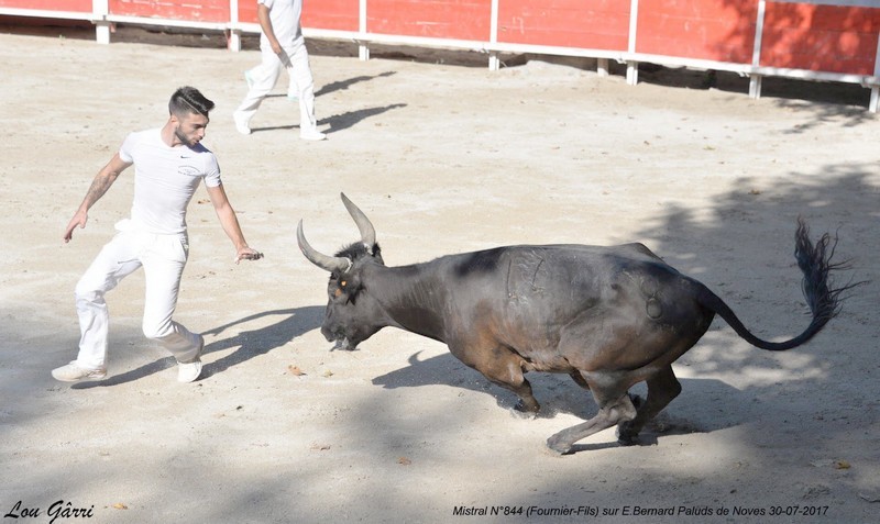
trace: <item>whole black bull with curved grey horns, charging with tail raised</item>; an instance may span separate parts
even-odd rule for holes
[[[619,442],[634,444],[681,392],[672,363],[715,314],[754,346],[791,349],[823,328],[849,288],[831,287],[829,274],[839,265],[831,264],[829,236],[813,245],[799,219],[794,256],[812,321],[796,337],[772,343],[752,335],[721,298],[641,244],[507,246],[386,267],[372,223],[344,194],[342,200],[361,242],[331,257],[308,244],[301,221],[297,228],[306,258],[330,271],[321,326],[327,339],[354,348],[395,326],[443,342],[461,361],[515,392],[517,409],[527,413],[540,404],[525,372],[569,374],[600,410],[548,439],[559,453],[615,424]],[[648,384],[644,402],[628,394],[641,381]]]

